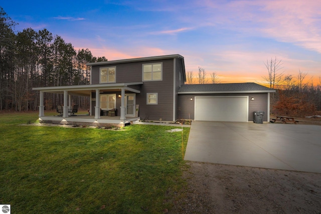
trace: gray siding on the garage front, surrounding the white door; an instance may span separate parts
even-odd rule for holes
[[[263,121],[267,121],[267,93],[241,93],[241,94],[179,94],[179,119],[194,120],[195,97],[218,96],[249,96],[248,121],[253,121],[254,111],[264,111]],[[254,97],[254,100],[251,100]],[[191,101],[193,98],[193,101]]]

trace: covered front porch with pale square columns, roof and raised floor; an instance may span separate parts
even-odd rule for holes
[[[135,87],[140,84],[142,84],[142,82],[33,88],[33,90],[38,90],[40,92],[39,121],[57,124],[87,124],[97,126],[100,124],[112,124],[114,126],[125,126],[125,124],[132,123],[132,121],[139,119],[138,112],[136,114],[128,115],[126,111],[125,94],[140,93],[139,90],[130,87]],[[101,116],[101,110],[104,109],[101,109],[100,95],[116,92],[119,94],[117,99],[120,99],[117,116]],[[63,94],[62,117],[45,115],[44,93]],[[90,97],[89,115],[77,115],[75,117],[68,114],[68,109],[72,108],[72,95]],[[113,97],[114,99],[116,98],[116,96]],[[115,108],[115,106],[113,108]]]

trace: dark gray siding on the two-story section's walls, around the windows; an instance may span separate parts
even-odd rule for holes
[[[129,62],[121,64],[109,64],[93,66],[92,68],[92,84],[99,84],[99,68],[103,67],[116,67],[116,83],[129,83],[129,82],[143,82],[142,81],[142,65],[150,63],[163,64],[163,79],[161,81],[144,81],[142,85],[129,86],[130,88],[139,90],[140,93],[136,94],[136,104],[139,105],[138,116],[142,120],[163,120],[173,121],[173,90],[174,90],[174,60],[163,59],[142,62]],[[180,60],[180,59],[179,59]],[[180,62],[180,64],[182,64]],[[182,66],[181,66],[182,67]],[[182,69],[181,69],[182,70]],[[178,90],[178,89],[177,89]],[[120,111],[120,98],[116,93],[116,109],[117,114]],[[157,93],[157,105],[147,105],[147,93]],[[94,104],[93,102],[93,109]],[[94,111],[92,111],[94,114]]]

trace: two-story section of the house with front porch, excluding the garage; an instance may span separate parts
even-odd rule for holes
[[[34,88],[40,91],[39,117],[43,122],[127,123],[143,120],[175,121],[178,119],[178,91],[186,81],[181,55],[144,57],[88,63],[90,85]],[[64,94],[63,119],[44,115],[43,93]],[[72,95],[88,96],[92,119],[69,117]],[[69,101],[69,102],[68,102]],[[110,109],[117,117],[105,117]],[[118,119],[119,121],[116,121]],[[112,120],[112,121],[111,121]]]

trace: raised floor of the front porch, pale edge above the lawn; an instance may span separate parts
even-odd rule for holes
[[[120,116],[100,116],[100,119],[95,119],[91,115],[76,115],[76,116],[42,116],[39,117],[40,123],[54,123],[65,125],[88,125],[88,126],[117,126],[124,127],[127,124],[132,124],[139,121],[139,117],[126,117],[121,120]]]

